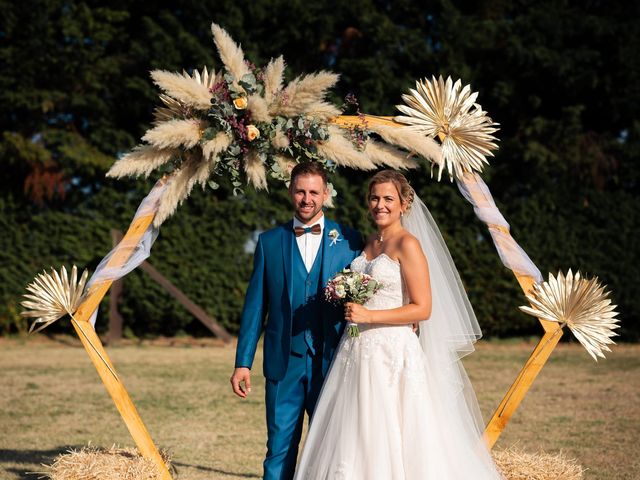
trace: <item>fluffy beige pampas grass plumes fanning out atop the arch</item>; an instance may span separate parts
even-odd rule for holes
[[[181,161],[160,200],[154,218],[156,226],[174,213],[196,184],[205,186],[214,172],[224,174],[224,169],[217,168],[220,167],[217,165],[219,155],[234,143],[233,131],[219,132],[213,139],[205,141],[202,138],[203,132],[210,131],[207,130],[209,127],[212,130],[226,130],[234,124],[224,124],[221,120],[222,125],[216,125],[215,120],[213,123],[210,120],[211,117],[216,118],[215,115],[205,118],[201,112],[207,112],[211,108],[211,89],[215,82],[222,80],[224,72],[234,77],[234,85],[237,87],[238,81],[251,73],[251,69],[245,62],[242,48],[225,30],[213,23],[211,32],[225,69],[218,73],[212,70],[209,74],[205,68],[202,72],[195,70],[191,75],[186,72],[177,74],[165,70],[152,71],[153,81],[164,92],[160,94],[164,106],[155,110],[155,125],[142,137],[145,144],[118,160],[108,172],[108,176],[111,177],[148,176],[153,170],[174,158]],[[297,77],[284,86],[284,69],[283,57],[272,59],[263,72],[264,93],[242,94],[248,95],[249,118],[259,125],[256,128],[265,130],[261,124],[269,124],[265,131],[273,133],[273,136],[267,140],[270,140],[276,151],[280,152],[275,158],[265,159],[264,154],[261,157],[257,149],[261,148],[263,139],[257,142],[258,146],[250,146],[249,152],[244,154],[238,167],[244,170],[247,183],[254,185],[256,189],[267,189],[268,168],[271,162],[277,163],[283,177],[290,173],[291,167],[296,163],[292,158],[281,154],[291,145],[287,135],[274,128],[277,126],[271,123],[276,115],[285,119],[305,116],[323,127],[326,125],[329,136],[326,140],[316,143],[317,154],[321,158],[333,160],[339,166],[359,170],[374,170],[378,165],[395,169],[415,168],[417,162],[411,158],[413,153],[442,165],[440,146],[433,139],[411,128],[394,128],[376,123],[369,126],[369,129],[378,133],[384,141],[408,152],[373,140],[367,141],[364,148],[360,149],[362,145],[356,146],[349,138],[349,133],[336,125],[327,125],[341,114],[339,108],[324,98],[339,76],[321,71]],[[246,119],[242,121],[246,122]],[[261,149],[264,153],[268,150]],[[278,168],[273,168],[276,170],[273,172],[274,177],[280,177]]]

